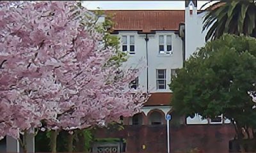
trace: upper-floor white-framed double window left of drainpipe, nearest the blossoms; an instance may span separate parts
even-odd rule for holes
[[[135,40],[134,36],[122,36],[122,51],[135,54]]]

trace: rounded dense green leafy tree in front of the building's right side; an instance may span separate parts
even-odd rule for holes
[[[255,91],[255,46],[255,38],[221,36],[195,52],[170,84],[177,112],[211,119],[222,113],[234,124],[241,149],[242,129],[253,138],[248,131],[256,128],[254,103],[248,96],[248,91]]]

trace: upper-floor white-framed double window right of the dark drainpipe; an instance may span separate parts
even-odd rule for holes
[[[159,54],[171,54],[172,52],[172,36],[159,35]]]

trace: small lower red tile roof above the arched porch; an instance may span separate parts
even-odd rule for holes
[[[145,106],[170,105],[171,99],[172,93],[170,92],[152,93]]]

